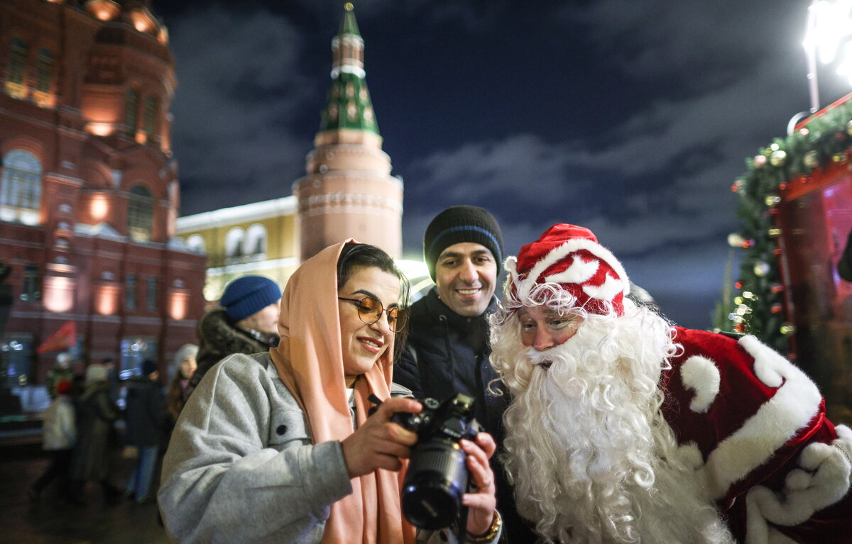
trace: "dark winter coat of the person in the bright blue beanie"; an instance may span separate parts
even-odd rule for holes
[[[239,329],[231,324],[227,313],[221,308],[210,310],[199,321],[199,353],[195,357],[198,368],[189,379],[183,391],[184,401],[189,398],[204,374],[214,364],[233,353],[261,353],[269,351],[270,347],[278,345],[278,339],[266,339],[253,335],[247,330]]]

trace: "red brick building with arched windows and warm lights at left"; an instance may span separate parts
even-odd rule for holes
[[[204,305],[204,255],[172,238],[165,26],[147,0],[3,0],[0,77],[3,386],[43,383],[57,352],[37,346],[68,321],[78,370],[165,368]]]

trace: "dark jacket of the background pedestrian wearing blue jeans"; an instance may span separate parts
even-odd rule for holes
[[[160,444],[165,399],[156,381],[145,376],[130,378],[127,385],[127,444],[140,448]]]

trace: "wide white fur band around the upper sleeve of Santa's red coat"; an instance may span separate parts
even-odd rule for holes
[[[816,415],[822,399],[807,375],[754,336],[744,336],[739,344],[755,359],[755,368],[761,369],[759,379],[779,375],[784,383],[773,398],[707,457],[704,478],[717,500],[805,427]]]

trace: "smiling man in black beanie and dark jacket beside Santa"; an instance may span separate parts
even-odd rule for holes
[[[452,206],[426,228],[423,258],[435,288],[412,305],[406,349],[394,380],[416,398],[443,401],[456,392],[475,398],[477,421],[499,445],[509,398],[500,394],[498,375],[488,360],[487,316],[497,307],[494,289],[504,258],[500,226],[486,209]],[[494,469],[509,542],[534,541],[515,513],[511,488],[496,460]]]

